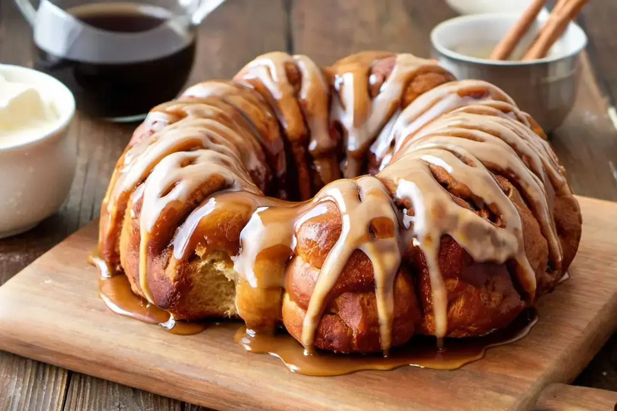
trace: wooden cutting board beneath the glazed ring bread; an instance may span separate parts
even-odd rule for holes
[[[571,278],[540,300],[528,336],[459,370],[304,376],[244,351],[232,328],[178,336],[113,314],[86,264],[94,223],[0,287],[0,349],[214,409],[531,409],[544,386],[573,380],[617,326],[617,203],[579,201]]]

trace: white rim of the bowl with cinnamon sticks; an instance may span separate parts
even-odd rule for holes
[[[469,63],[477,63],[477,64],[493,65],[493,66],[507,66],[507,67],[528,66],[528,65],[535,65],[535,64],[540,64],[540,63],[553,63],[559,60],[567,59],[568,57],[573,57],[575,55],[578,55],[581,51],[585,49],[585,47],[587,47],[588,40],[587,40],[587,35],[585,31],[582,30],[581,26],[579,26],[578,24],[574,22],[570,22],[569,30],[574,30],[576,33],[581,35],[582,41],[581,41],[581,44],[578,45],[578,47],[573,47],[571,51],[568,51],[563,54],[555,55],[552,57],[543,57],[542,59],[529,60],[529,61],[524,61],[524,62],[520,60],[489,60],[489,59],[481,59],[479,57],[471,57],[469,55],[460,54],[458,52],[452,51],[448,49],[447,47],[442,46],[436,41],[437,31],[442,30],[445,26],[455,21],[495,20],[495,19],[500,19],[500,18],[513,20],[513,19],[518,19],[519,17],[520,17],[519,15],[511,14],[511,13],[482,13],[482,14],[461,15],[458,17],[449,18],[448,20],[444,20],[443,22],[434,26],[433,30],[431,30],[431,44],[433,44],[433,47],[435,47],[435,49],[437,49],[438,52],[446,55],[447,57],[450,57],[451,59],[461,60],[461,61],[469,62]]]

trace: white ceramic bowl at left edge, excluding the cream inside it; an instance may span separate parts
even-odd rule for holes
[[[73,94],[57,81],[30,68],[0,64],[8,81],[32,84],[54,102],[57,125],[28,140],[0,144],[0,238],[25,232],[51,216],[67,198],[77,160],[77,142],[69,132],[75,114]]]

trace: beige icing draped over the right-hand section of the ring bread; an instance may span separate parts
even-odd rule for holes
[[[396,200],[413,209],[405,243],[423,251],[428,266],[437,336],[447,333],[447,290],[439,273],[436,238],[450,235],[475,261],[517,263],[516,275],[529,301],[536,291],[536,272],[523,245],[523,227],[515,204],[495,181],[508,177],[523,194],[549,243],[553,267],[561,269],[563,253],[555,229],[547,187],[569,195],[563,169],[550,147],[530,128],[510,117],[452,113],[408,137],[378,176],[394,183]],[[525,161],[522,160],[525,159]],[[502,227],[452,201],[431,167],[444,169],[469,192],[470,201],[500,216]]]

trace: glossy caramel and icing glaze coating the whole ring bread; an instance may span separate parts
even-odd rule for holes
[[[371,96],[373,63],[392,57],[391,73]],[[131,268],[131,285],[147,306],[156,307],[161,301],[152,285],[160,274],[154,272],[158,261],[153,256],[167,253],[166,267],[174,267],[193,258],[195,250],[222,250],[234,272],[236,314],[246,322],[248,335],[271,335],[281,322],[297,233],[334,207],[341,234],[319,268],[297,337],[307,353],[315,352],[329,296],[356,250],[373,269],[385,356],[394,346],[395,278],[408,264],[405,256],[416,251],[426,259],[434,336],[441,341],[449,335],[448,289],[438,258],[444,236],[474,261],[513,264],[521,298],[531,304],[537,274],[526,255],[513,192],[529,204],[547,241],[551,267],[560,275],[563,250],[553,200],[571,194],[563,168],[537,124],[491,84],[452,81],[401,107],[410,79],[431,70],[443,71],[408,54],[366,52],[322,71],[305,56],[275,52],[249,63],[235,81],[190,87],[150,113],[118,161],[102,206],[101,259],[94,262],[101,271],[125,266],[120,242],[136,238],[138,264]],[[329,131],[330,123],[341,124],[342,142]],[[287,160],[283,141],[291,147]],[[345,179],[338,179],[340,147],[347,152]],[[379,173],[359,176],[368,152],[378,161]],[[307,158],[314,161],[317,181],[302,174],[310,171]],[[283,200],[293,190],[281,189],[289,179],[286,161],[297,170],[296,198],[304,201]],[[456,201],[439,173],[463,185],[474,206],[498,218],[491,221]],[[513,181],[515,189],[508,192],[495,175]],[[282,199],[265,197],[268,192]],[[220,232],[223,223],[228,226]],[[168,226],[178,228],[169,232]],[[255,348],[256,342],[243,344],[268,351]]]

